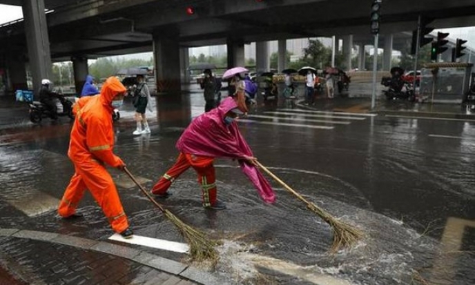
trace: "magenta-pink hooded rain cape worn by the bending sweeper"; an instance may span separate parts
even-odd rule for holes
[[[244,156],[253,156],[251,148],[237,128],[237,123],[233,121],[229,126],[224,124],[226,113],[233,108],[237,108],[234,99],[227,97],[221,101],[219,107],[196,117],[178,139],[177,149],[182,153],[206,157],[242,159]],[[242,160],[240,167],[264,202],[273,203],[275,193],[258,168]]]

